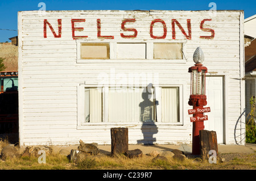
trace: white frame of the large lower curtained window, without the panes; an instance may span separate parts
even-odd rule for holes
[[[124,86],[124,85],[120,85]],[[118,85],[115,85],[115,87],[120,87]],[[126,85],[125,85],[126,86]],[[129,85],[127,85],[128,87]],[[130,85],[131,86],[131,85]],[[141,85],[142,87],[146,87],[147,85]],[[161,106],[157,107],[157,111],[160,112],[158,113],[158,121],[154,122],[146,122],[146,124],[156,124],[156,125],[184,125],[184,111],[183,111],[183,86],[184,85],[158,85],[155,86],[156,94],[155,94],[155,99],[158,100],[159,105],[161,105],[161,88],[162,87],[179,87],[179,122],[161,122],[159,121],[162,116],[162,108]],[[108,121],[108,96],[106,96],[105,92],[106,89],[109,89],[109,87],[114,87],[111,85],[104,85],[101,87],[102,89],[102,122],[100,123],[85,123],[85,103],[84,103],[84,98],[85,98],[85,88],[90,88],[90,87],[98,87],[97,85],[85,85],[85,84],[80,84],[77,86],[77,129],[88,129],[88,126],[90,125],[118,125],[118,126],[125,126],[125,125],[141,125],[142,122],[131,122],[131,123],[125,123],[125,122],[109,122]],[[135,86],[136,87],[136,86]],[[139,86],[138,86],[139,87]]]

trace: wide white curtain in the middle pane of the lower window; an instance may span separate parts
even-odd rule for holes
[[[109,122],[154,121],[154,100],[144,87],[115,87],[108,96]]]

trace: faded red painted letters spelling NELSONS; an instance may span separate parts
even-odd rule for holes
[[[214,30],[210,29],[210,28],[205,28],[205,23],[211,21],[212,19],[203,19],[200,21],[200,24],[198,26],[198,28],[200,28],[200,30],[202,32],[208,32],[209,35],[208,36],[199,36],[201,39],[213,39],[214,38]],[[61,30],[62,30],[62,23],[61,23],[62,19],[56,19],[56,20],[48,20],[48,19],[44,19],[44,32],[43,32],[43,36],[44,38],[47,38],[47,27],[49,27],[49,29],[51,30],[51,32],[53,33],[53,36],[55,38],[61,38]],[[76,35],[76,31],[84,31],[84,29],[86,30],[86,27],[76,27],[75,23],[77,22],[85,22],[86,19],[71,19],[71,32],[72,32],[72,38],[75,39],[86,39],[88,37],[88,35],[80,35],[77,36]],[[101,32],[101,19],[95,19],[96,23],[97,23],[97,38],[98,39],[114,39],[114,36],[111,35],[102,35]],[[58,27],[57,28],[53,28],[51,23],[58,23]],[[120,36],[123,39],[130,39],[130,38],[135,38],[139,36],[139,33],[137,31],[136,28],[127,28],[126,27],[126,23],[134,23],[136,22],[136,19],[123,19],[122,23],[120,24]],[[170,23],[170,24],[168,24]],[[154,19],[151,21],[150,24],[148,24],[148,27],[150,28],[150,32],[149,35],[152,39],[166,39],[167,37],[167,28],[171,28],[172,30],[172,34],[170,35],[172,39],[176,39],[176,31],[181,31],[183,33],[183,35],[185,36],[186,39],[191,40],[192,39],[192,31],[191,31],[191,19],[187,19],[187,24],[180,24],[179,20],[177,19],[170,19],[169,22],[165,22],[162,19]],[[154,34],[154,25],[155,24],[159,24],[160,26],[163,27],[163,32],[162,35],[155,35]]]

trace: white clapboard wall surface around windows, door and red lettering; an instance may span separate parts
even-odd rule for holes
[[[19,37],[19,135],[21,145],[51,143],[53,145],[98,142],[110,144],[110,128],[129,127],[129,144],[137,144],[143,139],[141,124],[95,123],[82,128],[77,127],[77,89],[79,85],[97,85],[98,75],[111,70],[115,73],[157,73],[159,85],[182,87],[180,124],[156,123],[158,127],[153,137],[157,144],[191,143],[192,123],[188,106],[190,74],[193,66],[193,52],[201,47],[204,52],[204,66],[208,75],[224,76],[225,79],[225,142],[235,144],[234,129],[244,105],[243,77],[243,12],[217,11],[210,16],[208,11],[22,11],[18,13]],[[57,19],[61,19],[61,37],[53,37],[47,25],[47,38],[44,37],[44,19],[52,25],[58,35]],[[86,19],[76,23],[84,27],[75,31],[76,36],[88,36],[86,39],[73,40],[71,19]],[[112,35],[114,39],[97,38],[97,19],[101,19],[101,35]],[[126,23],[126,27],[136,28],[137,37],[123,39],[120,36],[123,19],[136,19]],[[150,37],[150,23],[162,19],[167,26],[165,39]],[[172,39],[171,19],[177,19],[188,33],[187,19],[191,19],[191,40],[185,38],[175,25],[176,39]],[[200,30],[200,22],[206,21],[204,28],[214,30],[213,39],[201,39],[210,36],[210,32]],[[157,24],[157,23],[156,23]],[[161,36],[163,27],[154,27],[154,35]],[[133,32],[123,32],[133,34]],[[184,43],[184,60],[89,60],[87,63],[77,60],[79,42],[154,42]],[[114,50],[110,50],[111,52]],[[147,52],[152,56],[152,52]],[[79,62],[79,63],[77,63]],[[243,126],[243,125],[242,125]],[[148,132],[151,132],[150,130]],[[238,135],[239,136],[239,135]]]

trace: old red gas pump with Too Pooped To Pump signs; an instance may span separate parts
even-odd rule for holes
[[[193,110],[188,110],[189,114],[193,114],[190,118],[193,123],[192,137],[192,154],[200,154],[200,138],[199,131],[204,129],[204,121],[208,120],[208,116],[204,112],[210,112],[210,108],[204,108],[207,105],[207,96],[205,95],[205,74],[207,68],[203,66],[204,53],[200,47],[197,47],[193,54],[193,61],[196,63],[188,69],[191,73],[191,94],[189,96],[189,106],[193,106]]]

